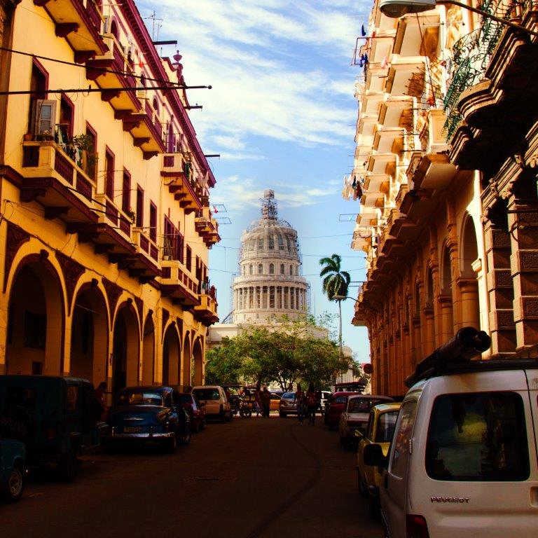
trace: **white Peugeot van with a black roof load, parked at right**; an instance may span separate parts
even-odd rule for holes
[[[469,360],[489,345],[466,327],[422,361],[389,454],[365,448],[387,537],[538,536],[538,360]]]

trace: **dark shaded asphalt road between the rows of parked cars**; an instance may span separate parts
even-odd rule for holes
[[[0,504],[0,536],[380,538],[355,461],[320,418],[235,417],[174,455],[95,455],[73,484],[34,476],[18,504]]]

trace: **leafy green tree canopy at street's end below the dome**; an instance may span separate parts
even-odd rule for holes
[[[296,382],[326,388],[352,365],[341,360],[326,329],[311,321],[249,326],[221,347],[207,352],[208,383],[277,383],[282,390]]]

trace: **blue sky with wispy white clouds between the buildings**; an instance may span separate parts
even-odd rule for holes
[[[188,90],[188,99],[203,106],[190,112],[202,149],[221,156],[209,159],[216,177],[210,203],[223,205],[215,215],[222,240],[209,252],[219,317],[232,310],[241,233],[260,217],[267,188],[280,218],[298,232],[312,314],[337,315],[322,293],[319,258],[343,257],[350,296],[365,278],[364,255],[350,247],[359,202],[343,200],[341,191],[357,121],[360,71],[350,64],[370,2],[144,0],[138,7],[154,40],[177,39],[177,47],[159,51],[172,57],[179,50],[187,85],[212,85]],[[343,341],[366,362],[368,336],[351,325],[353,304],[342,303]]]

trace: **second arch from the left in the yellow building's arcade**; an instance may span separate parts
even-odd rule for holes
[[[99,287],[86,282],[78,289],[71,314],[69,373],[95,386],[108,381],[109,309]]]

